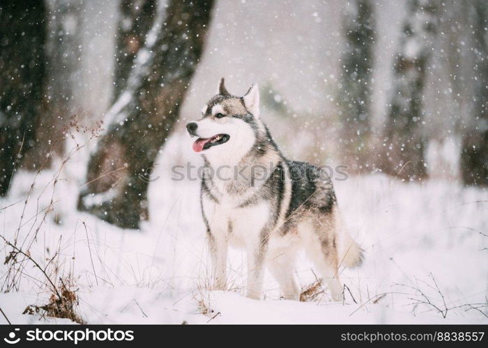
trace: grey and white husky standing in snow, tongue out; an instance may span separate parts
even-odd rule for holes
[[[204,158],[200,201],[215,288],[225,288],[230,244],[247,252],[247,297],[260,298],[266,264],[282,296],[298,300],[293,264],[305,248],[333,300],[342,299],[338,269],[359,265],[362,250],[342,227],[330,177],[285,159],[271,139],[258,86],[236,97],[222,78],[201,118],[186,127]]]

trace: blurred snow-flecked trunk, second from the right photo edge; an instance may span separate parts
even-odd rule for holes
[[[429,57],[436,38],[438,1],[410,0],[394,67],[381,167],[404,180],[427,177],[422,134],[422,97]]]

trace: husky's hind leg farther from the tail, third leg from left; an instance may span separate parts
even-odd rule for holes
[[[298,301],[300,289],[293,272],[296,250],[293,248],[277,248],[270,251],[267,266],[270,274],[280,285],[281,294],[285,299]]]

